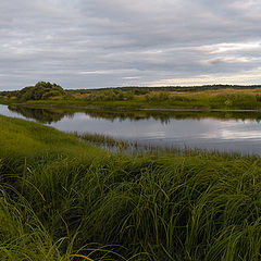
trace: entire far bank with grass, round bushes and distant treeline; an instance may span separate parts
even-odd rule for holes
[[[54,107],[186,110],[260,110],[260,86],[144,87],[63,90],[40,82],[0,94],[1,103]]]

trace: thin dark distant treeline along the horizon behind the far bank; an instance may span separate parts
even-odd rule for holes
[[[160,86],[160,87],[139,87],[139,86],[127,86],[127,87],[107,87],[107,88],[92,88],[92,89],[64,89],[67,92],[74,94],[89,94],[91,91],[102,91],[105,89],[117,89],[122,91],[132,90],[145,90],[145,91],[200,91],[200,90],[219,90],[219,89],[258,89],[261,85],[201,85],[201,86]],[[0,91],[0,96],[8,96],[10,92],[16,90],[3,90]]]

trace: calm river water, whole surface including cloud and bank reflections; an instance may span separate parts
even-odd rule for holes
[[[72,112],[0,105],[0,114],[41,122],[62,132],[98,133],[164,147],[261,154],[260,113]]]

